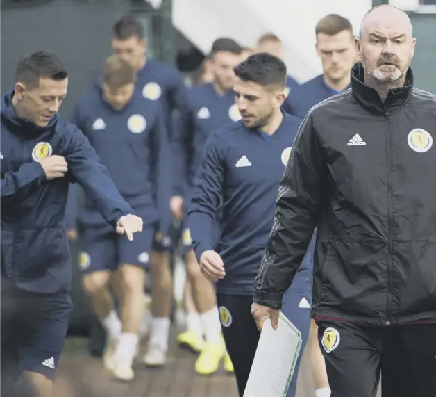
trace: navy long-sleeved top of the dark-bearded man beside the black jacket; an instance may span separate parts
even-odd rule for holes
[[[219,203],[223,203],[217,252],[224,261],[226,277],[217,282],[217,293],[253,293],[274,222],[278,186],[300,123],[293,115],[283,115],[280,127],[268,136],[240,121],[208,138],[188,214],[199,259],[206,250],[213,250],[213,222]]]

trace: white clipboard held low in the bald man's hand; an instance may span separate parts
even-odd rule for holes
[[[301,350],[301,332],[280,311],[278,329],[265,321],[244,397],[285,397]]]

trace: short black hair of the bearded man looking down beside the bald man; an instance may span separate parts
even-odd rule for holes
[[[249,56],[233,70],[238,79],[260,86],[284,87],[286,84],[287,70],[283,60],[264,52]]]

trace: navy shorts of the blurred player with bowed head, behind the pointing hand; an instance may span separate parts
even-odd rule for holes
[[[151,251],[163,252],[171,246],[168,236],[158,243],[155,235],[155,225],[144,225],[142,232],[135,233],[133,241],[128,241],[126,236],[120,236],[115,232],[85,228],[81,231],[79,269],[82,273],[115,271],[119,264],[131,264],[148,269]]]

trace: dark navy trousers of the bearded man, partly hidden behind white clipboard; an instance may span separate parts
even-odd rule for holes
[[[253,297],[250,295],[217,294],[221,329],[226,341],[226,348],[235,368],[235,377],[240,397],[244,395],[246,382],[249,379],[251,364],[260,338],[254,318],[251,315]],[[311,291],[303,291],[290,287],[283,295],[281,311],[301,332],[303,343],[299,359],[296,362],[294,376],[287,391],[287,397],[296,394],[296,380],[305,343],[310,331]]]

